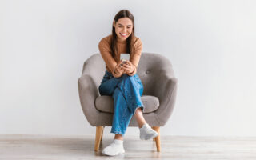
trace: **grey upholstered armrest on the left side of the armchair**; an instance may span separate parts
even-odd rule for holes
[[[99,94],[96,84],[89,74],[82,74],[82,76],[78,78],[78,91],[82,111],[90,125],[94,126],[94,118],[100,114],[100,112],[96,110],[94,103]]]

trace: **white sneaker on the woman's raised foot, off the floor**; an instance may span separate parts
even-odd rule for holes
[[[142,140],[148,140],[158,136],[158,132],[153,130],[147,123],[144,124],[142,128],[139,129],[139,132],[140,132],[139,138]]]

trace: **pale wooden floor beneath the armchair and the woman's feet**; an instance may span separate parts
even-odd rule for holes
[[[94,136],[0,135],[0,159],[256,159],[256,137],[162,136],[162,151],[158,153],[153,140],[126,136],[125,154],[102,155],[102,148],[108,146],[112,138],[103,137],[99,151],[94,152]]]

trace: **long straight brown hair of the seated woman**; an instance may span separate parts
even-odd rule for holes
[[[134,30],[134,16],[133,14],[130,13],[129,10],[120,10],[118,12],[118,14],[116,14],[114,16],[114,21],[118,22],[119,18],[129,18],[132,22],[133,22],[133,31],[130,34],[130,36],[126,39],[126,44],[127,44],[127,53],[132,54],[133,52],[133,42],[134,42],[134,38],[135,38],[135,30]],[[116,42],[117,42],[117,34],[115,33],[115,29],[114,29],[114,25],[112,25],[112,38],[111,38],[111,54],[112,57],[115,59],[117,54],[118,54],[118,50],[117,50],[117,46],[116,46]]]

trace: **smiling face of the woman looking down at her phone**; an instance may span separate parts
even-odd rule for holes
[[[133,31],[133,22],[129,18],[119,18],[117,22],[113,22],[113,26],[119,41],[126,41]]]

